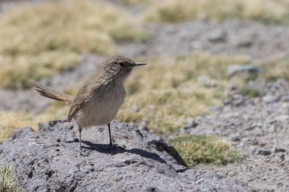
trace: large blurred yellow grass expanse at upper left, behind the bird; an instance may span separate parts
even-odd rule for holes
[[[80,54],[117,53],[119,41],[145,41],[121,7],[92,1],[57,1],[16,7],[0,17],[0,86],[23,88],[78,64]]]

